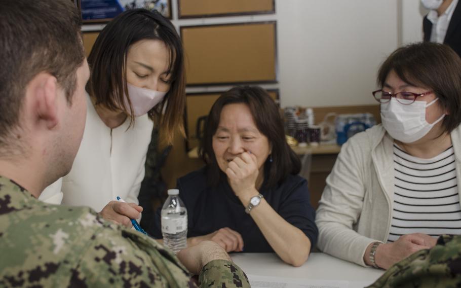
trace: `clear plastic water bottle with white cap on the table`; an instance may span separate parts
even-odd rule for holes
[[[168,190],[161,215],[163,243],[178,253],[187,247],[187,209],[179,198],[178,189]]]

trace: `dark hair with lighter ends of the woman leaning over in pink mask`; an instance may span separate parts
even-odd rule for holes
[[[165,43],[170,54],[169,71],[171,87],[163,101],[153,107],[148,116],[160,121],[167,142],[173,140],[174,131],[183,131],[183,113],[185,105],[185,71],[181,40],[173,24],[159,12],[145,9],[128,10],[112,21],[99,33],[88,56],[92,70],[87,90],[96,104],[102,104],[110,110],[119,110],[133,115],[131,103],[125,107],[124,92],[128,94],[126,82],[127,53],[131,45],[141,40],[160,40]],[[129,99],[128,99],[129,101]],[[163,112],[163,115],[162,115]],[[131,123],[134,117],[131,117]],[[157,124],[157,123],[156,123]]]

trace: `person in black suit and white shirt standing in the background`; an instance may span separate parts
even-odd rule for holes
[[[427,1],[422,1],[422,4],[425,5]],[[454,2],[454,3],[453,3]],[[426,6],[426,5],[425,5]],[[427,7],[427,6],[426,6]],[[440,2],[440,5],[435,8],[435,7],[427,7],[427,8],[433,8],[434,10],[431,11],[426,17],[424,17],[424,20],[422,21],[422,30],[424,32],[424,41],[431,41],[431,42],[439,42],[437,41],[437,38],[440,39],[440,37],[437,37],[436,35],[432,35],[432,33],[435,30],[438,29],[433,29],[433,25],[437,25],[437,21],[442,18],[442,16],[445,14],[445,16],[448,17],[448,27],[445,29],[442,28],[442,30],[446,31],[445,37],[442,38],[443,43],[448,46],[450,46],[458,55],[461,56],[461,4],[457,0],[443,0]],[[451,14],[451,10],[452,14]],[[435,17],[431,17],[431,13]],[[451,14],[451,18],[449,17]],[[434,19],[435,18],[435,23]],[[440,32],[440,31],[435,31]],[[432,37],[431,37],[432,36]],[[442,36],[443,36],[443,31],[442,31]]]

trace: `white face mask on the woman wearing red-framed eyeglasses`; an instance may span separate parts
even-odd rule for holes
[[[404,143],[411,143],[424,137],[432,127],[442,121],[443,114],[434,123],[426,121],[426,107],[434,104],[439,98],[430,103],[414,101],[405,105],[392,98],[387,103],[381,103],[381,121],[386,131],[394,138]],[[411,100],[401,99],[402,102],[411,103]]]

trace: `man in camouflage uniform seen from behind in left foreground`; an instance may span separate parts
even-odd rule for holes
[[[176,257],[87,207],[37,198],[72,166],[89,69],[68,0],[0,0],[0,287],[247,287],[219,245]]]

